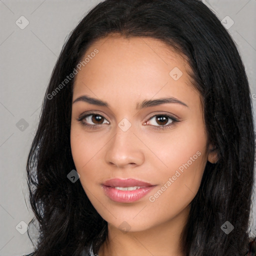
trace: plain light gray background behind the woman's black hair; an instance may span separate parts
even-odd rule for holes
[[[61,47],[68,33],[98,2],[100,0],[0,0],[0,256],[32,251],[24,224],[33,217],[25,180],[28,151]],[[234,22],[228,31],[242,56],[255,109],[256,0],[203,2],[226,25]],[[20,21],[22,15],[29,21],[23,29],[19,27],[25,24],[23,18]]]

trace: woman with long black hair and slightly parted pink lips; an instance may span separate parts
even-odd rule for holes
[[[255,255],[254,140],[241,58],[202,2],[100,2],[29,152],[33,255]]]

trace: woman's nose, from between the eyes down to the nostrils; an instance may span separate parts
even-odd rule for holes
[[[144,162],[141,141],[133,133],[132,126],[123,131],[116,125],[116,133],[107,143],[105,160],[118,168],[135,167]]]

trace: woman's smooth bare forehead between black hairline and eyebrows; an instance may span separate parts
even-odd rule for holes
[[[111,98],[118,93],[120,100],[127,100],[168,94],[185,100],[194,91],[185,58],[155,38],[109,35],[92,43],[81,61],[86,57],[75,77],[73,97],[86,93]]]

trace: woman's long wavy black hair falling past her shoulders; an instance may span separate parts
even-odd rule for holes
[[[244,255],[250,239],[255,135],[248,81],[233,40],[200,0],[105,0],[70,33],[43,100],[27,160],[29,199],[39,223],[34,256],[77,256],[90,244],[97,253],[107,236],[107,222],[80,182],[67,178],[75,169],[70,150],[73,78],[63,81],[86,49],[110,33],[160,39],[187,59],[218,161],[206,163],[191,202],[182,233],[184,253]],[[228,234],[221,228],[226,221],[234,226]]]

